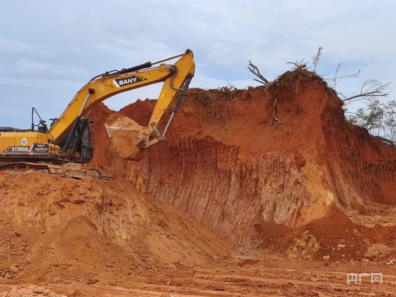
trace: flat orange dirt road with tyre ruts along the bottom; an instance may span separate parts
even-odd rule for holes
[[[328,264],[328,265],[327,265]],[[327,265],[327,266],[326,266]],[[291,267],[294,267],[291,269]],[[394,266],[380,263],[295,261],[285,259],[216,261],[211,267],[178,267],[177,271],[147,273],[145,282],[130,279],[120,284],[96,283],[39,284],[50,294],[66,296],[395,296]],[[383,283],[371,284],[371,273],[383,273]],[[347,273],[359,273],[361,284],[350,282]],[[146,274],[146,273],[145,273]],[[0,286],[0,292],[37,285]],[[42,294],[36,293],[36,296]],[[0,296],[1,293],[0,293]],[[18,295],[15,295],[18,296]],[[29,296],[29,295],[22,295]],[[34,296],[33,294],[31,296]]]

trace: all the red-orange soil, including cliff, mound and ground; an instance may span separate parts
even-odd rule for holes
[[[44,296],[33,284],[46,296],[392,296],[396,150],[349,124],[318,76],[189,90],[166,142],[125,160],[104,123],[146,126],[154,104],[93,111],[90,166],[114,180],[0,173],[0,297]],[[345,283],[377,271],[383,286]]]

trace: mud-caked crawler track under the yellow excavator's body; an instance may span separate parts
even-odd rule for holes
[[[6,162],[0,163],[0,171],[13,176],[31,172],[41,172],[74,179],[83,179],[84,177],[93,177],[96,179],[106,180],[112,179],[112,175],[105,170],[99,170],[97,168],[84,168],[76,163],[54,165],[33,162]]]

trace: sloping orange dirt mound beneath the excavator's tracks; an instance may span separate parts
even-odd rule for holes
[[[224,257],[229,245],[121,181],[0,174],[0,281],[116,283]]]

